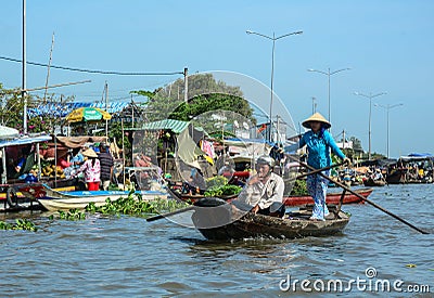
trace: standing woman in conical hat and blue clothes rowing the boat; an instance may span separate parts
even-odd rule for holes
[[[336,154],[345,163],[349,164],[349,158],[346,157],[342,151],[337,147],[332,135],[327,130],[331,127],[331,124],[319,114],[315,113],[312,116],[307,118],[302,124],[305,128],[309,128],[302,135],[298,147],[307,146],[307,164],[315,169],[326,168],[332,165],[332,158],[330,156],[330,150]],[[329,176],[330,170],[323,171],[324,174]],[[309,174],[306,179],[307,191],[314,198],[314,210],[311,220],[324,220],[324,216],[329,215],[329,210],[326,205],[326,195],[329,180],[319,174]]]

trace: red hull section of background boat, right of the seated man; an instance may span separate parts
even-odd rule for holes
[[[356,193],[363,197],[368,197],[372,193],[372,189],[360,189],[360,190],[355,190]],[[335,204],[337,205],[340,199],[341,199],[342,193],[329,193],[327,194],[327,204]],[[288,196],[283,198],[284,205],[285,206],[301,206],[301,205],[306,205],[306,204],[314,204],[314,199],[311,196],[306,195],[306,196]],[[359,198],[358,196],[352,194],[352,193],[346,193],[344,197],[343,204],[363,204],[365,200]]]

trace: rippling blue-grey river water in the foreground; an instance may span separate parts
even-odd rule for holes
[[[379,278],[429,284],[434,290],[433,195],[433,184],[390,185],[369,197],[430,235],[369,204],[344,206],[353,217],[340,235],[225,243],[205,241],[167,220],[91,216],[50,221],[26,215],[42,229],[0,231],[1,296],[276,297],[285,295],[279,282],[288,274],[348,281],[366,277],[369,267]]]

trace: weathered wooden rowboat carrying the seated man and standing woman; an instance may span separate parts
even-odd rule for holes
[[[286,213],[284,218],[276,218],[252,212],[240,215],[233,211],[232,204],[226,204],[218,198],[200,199],[194,205],[207,207],[194,208],[192,220],[201,234],[213,241],[329,236],[342,232],[349,222],[349,217],[341,210],[334,210],[332,218],[326,221],[312,221],[309,220],[311,210],[301,210]]]

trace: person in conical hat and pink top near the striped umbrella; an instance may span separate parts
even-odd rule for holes
[[[98,159],[98,155],[92,148],[87,148],[82,152],[82,155],[88,157],[88,159],[77,169],[74,176],[82,172],[88,191],[98,191],[101,182],[100,159]]]

